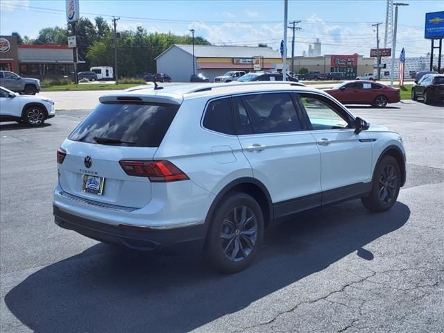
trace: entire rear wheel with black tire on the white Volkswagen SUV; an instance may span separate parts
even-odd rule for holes
[[[236,273],[255,259],[264,238],[264,216],[257,201],[234,192],[219,203],[207,234],[205,257],[217,270]]]

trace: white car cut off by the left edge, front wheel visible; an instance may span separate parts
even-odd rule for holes
[[[56,115],[54,102],[44,96],[20,95],[0,87],[0,121],[41,126]]]

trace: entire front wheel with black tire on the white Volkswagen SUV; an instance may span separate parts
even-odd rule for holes
[[[401,171],[394,157],[384,156],[376,167],[372,190],[361,202],[372,212],[385,212],[396,203],[400,193]]]

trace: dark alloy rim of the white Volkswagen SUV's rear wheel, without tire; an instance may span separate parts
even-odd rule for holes
[[[257,219],[253,210],[245,205],[234,207],[222,223],[221,246],[223,253],[233,262],[241,262],[255,248]]]

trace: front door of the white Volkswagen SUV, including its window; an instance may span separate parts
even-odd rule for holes
[[[299,99],[321,152],[323,205],[369,187],[373,138],[355,133],[352,117],[325,96],[304,93]]]

